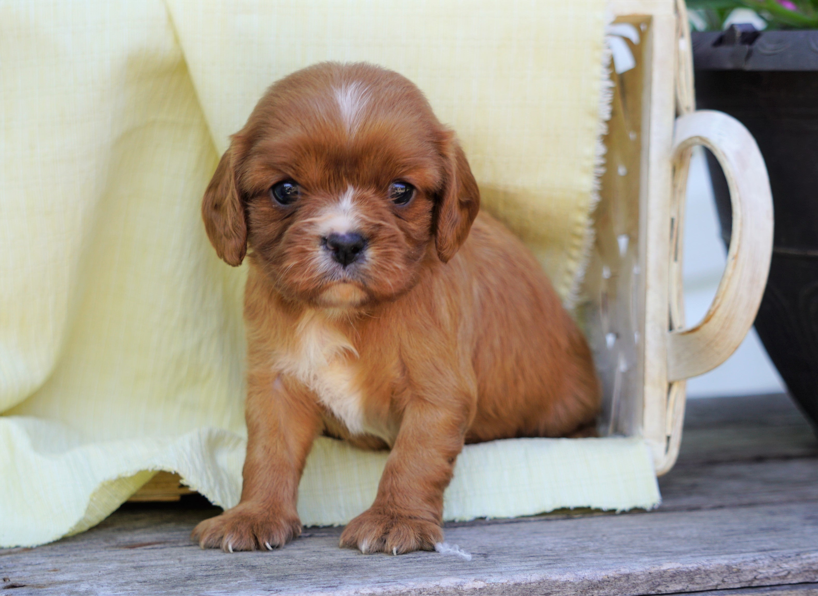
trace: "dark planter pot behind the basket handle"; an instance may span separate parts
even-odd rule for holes
[[[818,432],[818,31],[733,28],[693,44],[697,107],[743,123],[770,173],[775,248],[755,327]],[[727,183],[709,152],[708,165],[729,243]]]

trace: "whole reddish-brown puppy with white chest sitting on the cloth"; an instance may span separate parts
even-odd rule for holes
[[[193,531],[203,548],[299,536],[321,433],[391,450],[340,545],[393,554],[443,540],[464,443],[593,434],[585,339],[532,254],[478,211],[454,133],[407,78],[323,63],[269,88],[202,204],[218,256],[249,261],[244,486]]]

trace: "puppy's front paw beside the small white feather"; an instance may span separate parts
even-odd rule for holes
[[[364,554],[403,554],[434,550],[434,544],[442,541],[443,530],[435,522],[373,507],[348,523],[340,546]]]

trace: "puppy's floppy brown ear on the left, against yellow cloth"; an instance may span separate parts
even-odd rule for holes
[[[236,149],[234,139],[218,162],[202,199],[202,219],[210,244],[219,258],[233,267],[238,267],[247,253],[245,206],[236,181]]]

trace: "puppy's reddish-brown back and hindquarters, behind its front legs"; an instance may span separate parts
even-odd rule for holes
[[[466,441],[594,434],[591,351],[532,253],[481,212],[456,261],[474,289],[478,410]]]

